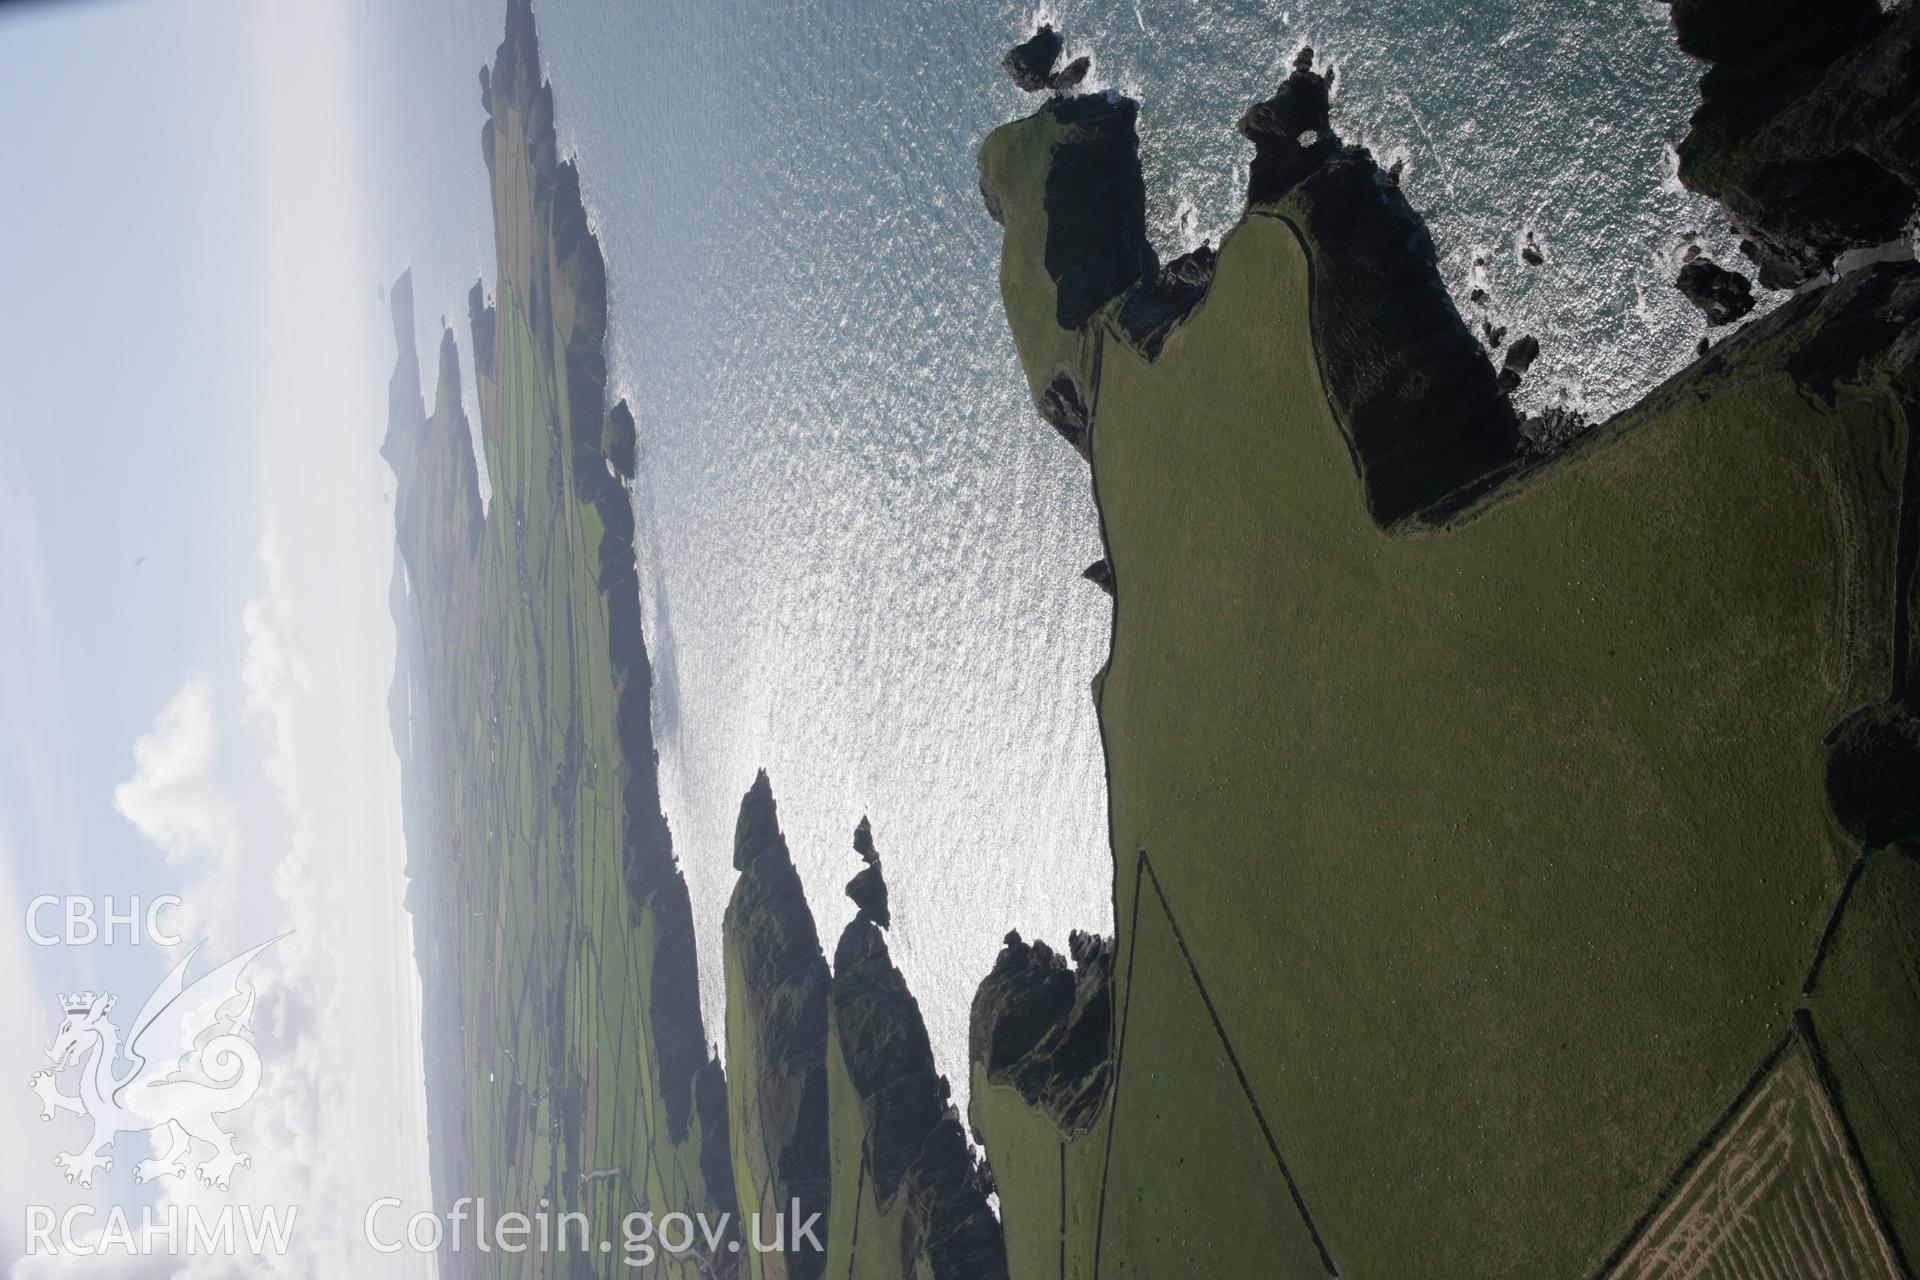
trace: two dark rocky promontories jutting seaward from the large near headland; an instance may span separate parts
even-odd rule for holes
[[[1425,223],[1365,148],[1340,142],[1329,102],[1331,73],[1302,50],[1273,98],[1240,119],[1254,142],[1248,213],[1283,219],[1311,244],[1321,367],[1373,518],[1444,520],[1519,464],[1519,416],[1453,309]],[[1058,332],[1021,344],[1035,405],[1083,455],[1091,370],[1077,334],[1112,307],[1116,332],[1158,359],[1206,299],[1217,261],[1204,246],[1162,269],[1146,238],[1137,113],[1116,94],[1056,98],[1025,142],[1044,148],[1044,165],[993,142],[981,152],[981,196],[1008,228],[1002,288],[1035,269],[1052,288]],[[1023,182],[1039,182],[1039,200],[1010,186]]]

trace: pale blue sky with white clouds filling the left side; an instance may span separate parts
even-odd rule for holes
[[[428,1274],[419,973],[401,910],[386,426],[392,263],[351,86],[365,6],[0,6],[0,1270]],[[175,894],[175,948],[38,946],[27,904]],[[58,910],[38,923],[58,931]],[[284,936],[280,936],[284,935]],[[131,1011],[278,936],[248,977],[263,1082],[230,1194],[94,1190],[38,1119],[56,996]],[[6,1084],[15,1080],[15,1084]],[[156,1188],[159,1188],[156,1192]],[[27,1205],[298,1207],[265,1265],[23,1257]],[[100,1226],[104,1217],[92,1221]],[[246,1259],[242,1259],[246,1261]]]

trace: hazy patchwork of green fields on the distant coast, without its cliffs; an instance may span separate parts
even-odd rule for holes
[[[455,714],[474,748],[453,754],[455,841],[474,850],[455,867],[449,910],[465,915],[451,923],[465,942],[476,1190],[503,1205],[545,1196],[563,1209],[589,1207],[591,1238],[618,1240],[618,1219],[639,1205],[664,1213],[708,1196],[699,1134],[668,1138],[643,1034],[657,938],[651,917],[628,923],[607,616],[588,553],[599,522],[568,491],[551,365],[534,349],[511,284],[499,334],[493,505]],[[557,794],[568,750],[582,768],[572,791]],[[559,1077],[545,1042],[555,1025]],[[509,1088],[515,1065],[520,1086]],[[572,1105],[555,1117],[563,1098]],[[612,1167],[624,1176],[580,1186],[580,1174]]]

